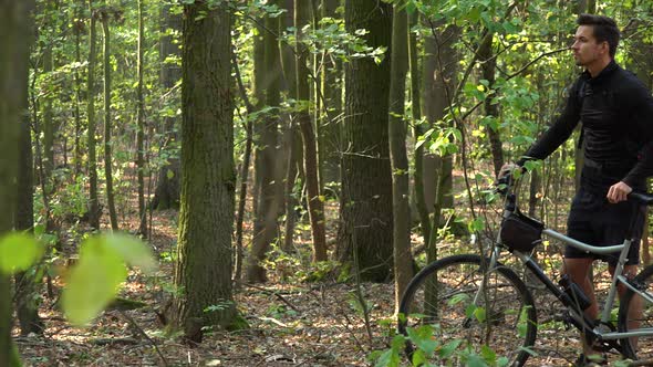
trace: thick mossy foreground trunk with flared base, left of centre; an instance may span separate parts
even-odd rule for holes
[[[227,326],[236,307],[231,290],[234,103],[231,15],[205,2],[184,7],[182,84],[182,209],[174,319],[188,340],[205,325]],[[206,311],[215,306],[210,311]]]

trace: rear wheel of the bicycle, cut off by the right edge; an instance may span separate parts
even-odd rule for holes
[[[642,270],[630,283],[645,296],[631,290],[625,292],[619,305],[618,328],[622,333],[642,331],[650,335],[621,339],[622,354],[633,360],[653,363],[653,302],[650,301],[653,300],[653,265]]]

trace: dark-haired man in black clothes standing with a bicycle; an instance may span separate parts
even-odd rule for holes
[[[623,242],[635,212],[626,196],[633,189],[645,190],[645,179],[653,174],[653,98],[633,74],[614,62],[620,38],[614,20],[581,14],[577,23],[570,49],[577,65],[583,66],[584,72],[570,87],[567,103],[551,127],[517,164],[522,166],[528,159],[548,157],[581,122],[584,166],[569,213],[568,235],[591,244],[616,244]],[[640,219],[625,274],[636,274],[643,216]],[[618,256],[598,256],[569,245],[564,249],[563,273],[569,274],[591,301],[585,310],[591,319],[598,318],[599,308],[589,270],[595,259],[601,259],[613,273]],[[624,292],[621,286],[620,296]],[[583,345],[577,364],[588,364],[590,354],[595,352],[590,345]]]

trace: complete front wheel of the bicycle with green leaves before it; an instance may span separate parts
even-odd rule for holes
[[[521,366],[535,343],[537,314],[512,270],[498,264],[485,272],[480,256],[454,255],[428,264],[411,281],[400,304],[398,332],[410,336],[408,358],[431,355],[456,366],[507,358]]]

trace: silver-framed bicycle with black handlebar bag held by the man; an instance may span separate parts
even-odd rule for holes
[[[505,197],[505,205],[494,245],[485,250],[487,253],[483,258],[478,254],[450,255],[422,269],[402,296],[398,332],[407,336],[411,329],[431,325],[431,338],[442,348],[467,348],[480,354],[483,346],[487,346],[493,353],[507,357],[509,365],[522,366],[533,354],[537,312],[529,287],[512,269],[499,261],[501,252],[507,250],[562,303],[567,312],[563,322],[581,331],[594,348],[614,349],[633,360],[650,359],[653,365],[653,338],[644,338],[653,336],[653,265],[632,279],[622,274],[636,213],[623,243],[594,247],[545,228],[543,223],[522,214],[516,195],[510,191],[514,186],[505,184],[497,190]],[[645,193],[632,192],[629,200],[642,206],[653,205],[653,196]],[[580,286],[566,277],[556,284],[530,256],[532,249],[541,243],[542,234],[597,254],[620,252],[600,321],[584,316],[583,310],[590,303]],[[626,293],[619,305],[614,327],[611,311],[618,283],[625,285]],[[636,307],[640,304],[641,317],[631,319],[631,305]],[[412,358],[416,347],[410,338],[405,348]],[[645,354],[649,356],[644,357]]]

